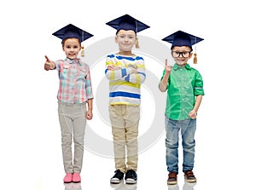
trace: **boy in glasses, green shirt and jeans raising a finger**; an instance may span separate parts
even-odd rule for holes
[[[181,130],[183,145],[183,173],[188,182],[195,182],[193,174],[195,157],[196,113],[204,95],[200,72],[190,67],[192,45],[201,42],[200,37],[185,32],[175,32],[163,39],[172,43],[174,66],[167,66],[160,80],[161,92],[167,90],[166,101],[166,165],[169,171],[167,184],[177,184],[178,132]]]

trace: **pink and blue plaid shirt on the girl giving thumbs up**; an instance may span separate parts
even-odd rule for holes
[[[59,72],[60,87],[57,98],[66,103],[83,103],[93,98],[90,68],[78,60],[56,60],[55,66]]]

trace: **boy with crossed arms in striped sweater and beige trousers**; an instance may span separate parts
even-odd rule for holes
[[[125,175],[125,182],[134,184],[137,182],[141,84],[146,74],[143,57],[134,55],[131,49],[135,44],[138,47],[137,32],[149,26],[128,14],[106,24],[117,30],[115,43],[119,45],[119,53],[108,55],[105,70],[109,80],[109,117],[112,124],[116,169],[110,182],[120,183]]]

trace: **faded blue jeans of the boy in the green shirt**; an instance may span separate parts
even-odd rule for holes
[[[183,145],[183,172],[194,168],[196,119],[179,121],[166,117],[166,165],[169,172],[178,173],[177,148],[180,129]]]

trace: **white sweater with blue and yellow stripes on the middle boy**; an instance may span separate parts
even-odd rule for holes
[[[119,66],[110,71],[108,66]],[[137,74],[131,68],[137,69]],[[109,80],[109,104],[139,106],[141,103],[141,84],[146,78],[143,57],[133,55],[108,55],[105,75]]]

